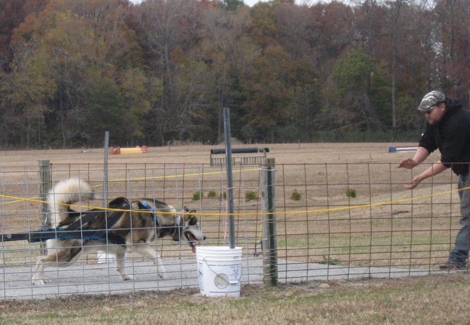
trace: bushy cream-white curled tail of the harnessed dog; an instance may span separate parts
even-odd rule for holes
[[[69,178],[57,183],[47,193],[47,224],[57,228],[69,218],[70,204],[81,203],[94,198],[92,187],[79,178]]]

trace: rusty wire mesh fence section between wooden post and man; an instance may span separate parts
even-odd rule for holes
[[[286,177],[292,169],[303,180]],[[329,279],[393,277],[438,272],[447,260],[460,218],[458,194],[452,190],[456,177],[435,177],[411,191],[403,188],[410,173],[390,163],[277,170],[278,199],[284,200],[277,207],[286,212],[277,223],[278,254],[285,256],[286,267],[292,261],[325,265]],[[297,192],[300,200],[293,199]]]

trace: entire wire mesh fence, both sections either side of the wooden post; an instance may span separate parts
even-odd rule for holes
[[[242,247],[242,283],[265,280],[262,254],[260,165],[234,167],[236,245]],[[87,181],[97,197],[74,210],[102,207],[116,197],[157,199],[196,210],[207,236],[199,245],[227,246],[227,186],[223,166],[204,164],[110,164],[106,192],[102,164],[52,164],[52,184],[69,177]],[[401,277],[440,273],[459,229],[457,177],[444,174],[414,190],[403,188],[411,171],[390,163],[310,163],[275,166],[277,276],[280,282]],[[44,228],[44,193],[37,165],[0,167],[1,235]],[[143,244],[143,243],[142,243]],[[49,281],[33,285],[44,247],[28,240],[2,241],[0,299],[34,299],[67,294],[120,293],[198,286],[195,255],[171,237],[152,248],[158,265],[130,249],[128,274],[116,271],[116,256],[84,255],[74,266],[51,263]],[[133,244],[139,245],[139,243]],[[78,247],[77,249],[80,249]],[[134,253],[132,252],[134,251]]]

